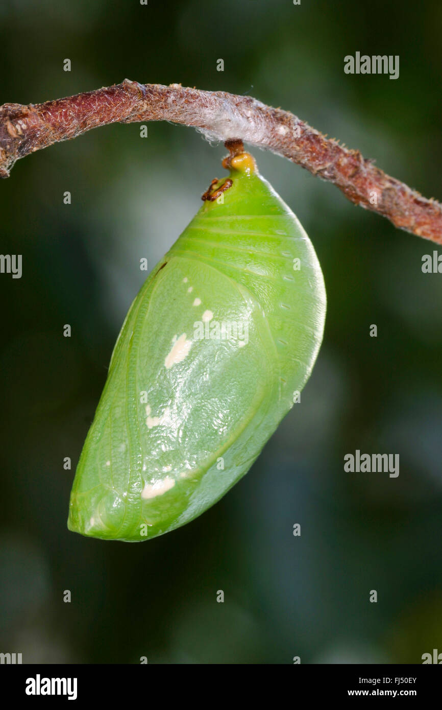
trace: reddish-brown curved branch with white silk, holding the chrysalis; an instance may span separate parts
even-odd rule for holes
[[[4,104],[0,107],[0,176],[9,177],[16,160],[28,153],[118,121],[172,121],[194,126],[210,140],[239,139],[284,155],[313,175],[333,182],[354,204],[442,244],[442,205],[382,173],[358,151],[326,138],[294,114],[252,97],[199,91],[180,84],[166,87],[126,79],[112,87],[44,104]]]

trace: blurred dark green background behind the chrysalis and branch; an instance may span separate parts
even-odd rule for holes
[[[248,93],[441,199],[441,21],[437,0],[419,11],[399,0],[3,0],[0,103],[125,77]],[[399,79],[345,75],[356,51],[399,55]],[[139,260],[153,268],[177,239],[225,153],[182,126],[148,124],[140,138],[138,124],[114,125],[18,161],[1,182],[0,251],[23,255],[23,276],[0,275],[0,651],[23,662],[420,663],[442,652],[442,275],[421,272],[436,247],[275,155],[255,151],[313,241],[328,293],[302,403],[190,525],[138,545],[67,531],[74,467],[145,278]],[[399,453],[399,478],[345,473],[355,449]]]

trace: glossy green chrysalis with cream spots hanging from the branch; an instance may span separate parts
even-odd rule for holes
[[[243,476],[321,344],[326,293],[297,217],[248,153],[133,301],[79,459],[68,528],[147,540]]]

